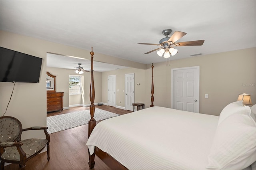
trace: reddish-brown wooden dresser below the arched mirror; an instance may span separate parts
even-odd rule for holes
[[[47,112],[63,111],[64,92],[47,93]]]

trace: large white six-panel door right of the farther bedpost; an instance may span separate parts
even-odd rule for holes
[[[199,113],[199,66],[172,69],[172,108]]]

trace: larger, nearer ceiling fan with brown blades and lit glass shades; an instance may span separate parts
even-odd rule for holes
[[[159,51],[157,51],[156,53],[162,57],[164,55],[165,58],[169,58],[170,55],[175,55],[176,53],[178,53],[177,49],[174,49],[174,46],[193,46],[193,45],[203,45],[204,40],[197,40],[197,41],[190,41],[190,42],[176,42],[178,41],[180,38],[182,38],[183,36],[185,36],[187,33],[185,32],[180,32],[180,31],[175,31],[171,37],[168,37],[168,35],[170,35],[172,32],[171,29],[165,29],[162,31],[162,34],[164,34],[164,36],[166,36],[166,38],[162,38],[159,41],[159,44],[155,44],[155,43],[138,43],[138,44],[144,44],[144,45],[157,45],[160,46],[157,49],[154,49],[152,51],[148,51],[147,53],[144,54],[148,54],[151,53],[153,51],[156,51],[158,49],[160,49]]]

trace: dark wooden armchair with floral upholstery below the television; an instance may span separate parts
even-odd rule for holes
[[[25,170],[26,162],[39,154],[47,145],[47,159],[50,160],[50,135],[46,131],[48,127],[30,127],[22,129],[20,121],[14,117],[4,116],[0,118],[1,140],[1,170],[4,163],[19,164]],[[22,131],[44,130],[46,138],[31,138],[21,140]]]

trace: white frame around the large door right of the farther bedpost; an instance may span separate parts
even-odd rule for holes
[[[200,66],[194,66],[194,67],[182,67],[182,68],[174,68],[171,69],[171,108],[174,108],[174,72],[176,70],[183,70],[183,69],[198,69],[198,113],[200,109]]]

